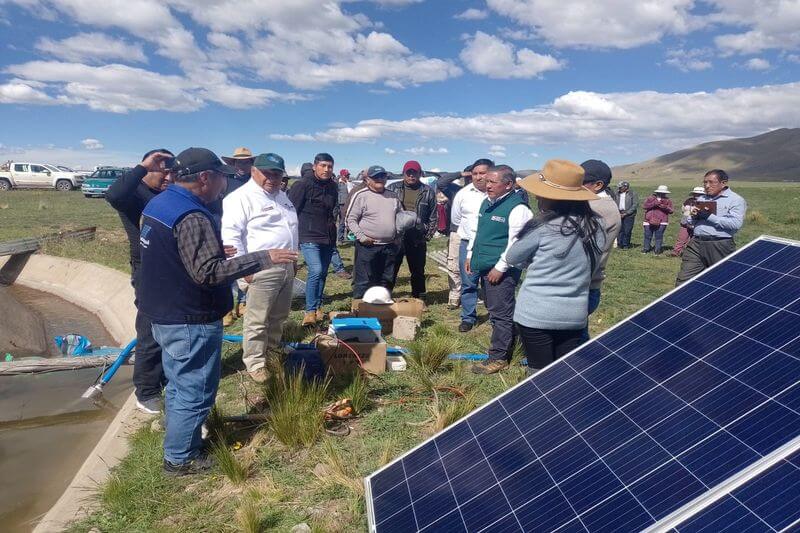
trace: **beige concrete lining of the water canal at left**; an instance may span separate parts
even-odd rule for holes
[[[15,283],[53,294],[91,311],[120,345],[136,336],[133,287],[127,274],[94,263],[48,255],[31,255],[22,266],[8,265],[8,262],[7,258],[0,258],[0,270],[4,270],[5,278],[13,277]],[[87,383],[87,387],[89,385]],[[131,394],[35,532],[62,531],[97,505],[95,491],[108,478],[111,468],[127,455],[127,437],[144,419],[136,410],[136,399]]]

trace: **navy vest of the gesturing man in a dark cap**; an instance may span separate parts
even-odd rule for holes
[[[142,213],[139,243],[142,271],[139,311],[155,324],[207,324],[233,309],[229,285],[198,285],[183,266],[173,229],[189,213],[199,212],[219,226],[202,201],[183,187],[170,185],[153,198]]]

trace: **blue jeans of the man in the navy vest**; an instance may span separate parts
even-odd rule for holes
[[[153,324],[167,377],[164,459],[183,464],[200,454],[200,437],[220,377],[222,321],[210,324]]]

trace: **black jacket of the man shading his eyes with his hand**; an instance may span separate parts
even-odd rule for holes
[[[117,179],[106,191],[106,201],[111,204],[122,220],[122,227],[128,236],[131,253],[131,277],[136,281],[139,267],[142,265],[141,248],[139,246],[139,222],[147,203],[160,191],[148,187],[143,181],[147,169],[136,165]]]

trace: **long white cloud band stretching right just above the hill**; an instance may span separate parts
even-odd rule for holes
[[[690,109],[691,113],[686,110]],[[800,82],[713,92],[570,92],[553,102],[497,114],[369,119],[314,134],[320,142],[375,142],[388,137],[457,139],[489,144],[612,142],[666,144],[752,135],[800,123]]]

